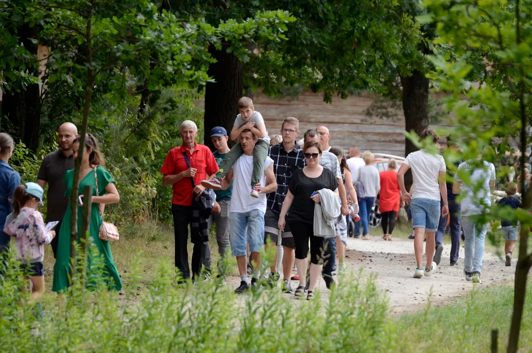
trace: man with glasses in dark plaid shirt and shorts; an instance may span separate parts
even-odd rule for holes
[[[277,226],[279,213],[281,212],[282,203],[288,192],[288,184],[292,173],[303,168],[305,157],[303,148],[295,143],[299,132],[299,121],[294,117],[286,118],[281,125],[282,142],[270,147],[269,157],[273,159],[273,174],[277,180],[276,192],[268,195],[268,208],[264,215],[264,240],[270,239],[270,242],[277,244],[280,240],[283,248],[282,255],[282,272],[284,284],[282,291],[285,293],[294,293],[290,286],[290,276],[295,260],[295,244],[292,232],[288,228],[281,233]],[[281,239],[279,239],[281,236]]]

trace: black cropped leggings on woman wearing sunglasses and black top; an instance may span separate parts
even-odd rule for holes
[[[325,238],[314,236],[314,226],[301,221],[291,221],[290,230],[294,236],[296,259],[306,259],[309,256],[310,238],[310,262],[323,264],[323,240]]]

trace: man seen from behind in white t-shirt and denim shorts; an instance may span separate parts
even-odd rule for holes
[[[425,129],[421,133],[421,139],[429,136],[433,138],[436,145],[439,137],[434,130]],[[407,192],[404,187],[404,174],[409,169],[412,169],[412,194]],[[419,150],[409,154],[397,172],[397,181],[401,187],[403,201],[410,203],[412,212],[414,252],[417,263],[414,278],[423,277],[423,272],[425,272],[426,277],[430,277],[437,268],[433,261],[436,247],[435,234],[438,229],[440,214],[445,217],[449,213],[445,171],[445,160],[442,156]],[[443,199],[443,207],[440,206],[440,199]],[[423,236],[427,239],[425,271],[422,268]]]

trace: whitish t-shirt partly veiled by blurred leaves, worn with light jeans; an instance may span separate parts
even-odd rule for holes
[[[480,166],[480,162],[482,166]],[[462,182],[460,186],[462,194],[462,214],[472,216],[482,214],[483,211],[491,207],[491,190],[489,182],[495,180],[495,166],[493,163],[480,161],[480,159],[470,159],[460,163],[458,171],[454,175],[454,180],[463,181],[462,177],[469,175],[469,185]],[[478,190],[475,192],[475,190]]]

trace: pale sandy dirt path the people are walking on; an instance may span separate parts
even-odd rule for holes
[[[395,313],[421,308],[427,303],[432,291],[433,304],[468,293],[473,285],[463,276],[463,243],[460,248],[459,265],[451,267],[449,262],[450,244],[444,245],[442,262],[431,277],[413,278],[415,269],[413,240],[396,239],[385,242],[372,236],[370,240],[347,239],[346,264],[348,270],[358,272],[363,268],[364,276],[377,274],[378,286],[388,293],[390,306]],[[425,261],[425,260],[423,260]],[[513,279],[514,264],[505,267],[504,261],[496,255],[485,253],[483,262],[482,286],[494,285]],[[295,274],[295,270],[293,272]],[[239,278],[228,278],[228,286],[238,286]],[[292,281],[297,287],[298,281]],[[328,300],[328,290],[323,280],[319,282],[322,299]]]

